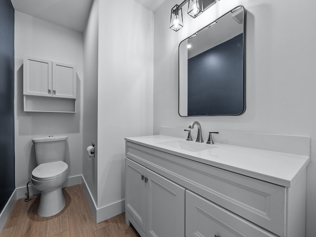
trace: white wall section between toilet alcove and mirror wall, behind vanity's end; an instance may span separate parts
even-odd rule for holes
[[[124,137],[153,134],[153,26],[133,0],[99,2],[98,208],[124,202]]]

